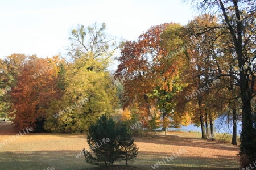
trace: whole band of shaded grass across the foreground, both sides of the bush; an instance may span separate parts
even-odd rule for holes
[[[27,151],[27,152],[0,152],[0,169],[47,169],[53,167],[55,170],[82,170],[82,169],[108,169],[90,165],[85,162],[84,156],[76,158],[79,154],[75,151]],[[130,167],[125,167],[124,162],[115,162],[114,167],[109,169],[153,169],[151,165],[163,161],[166,156],[161,153],[139,152],[137,159]],[[238,169],[237,159],[232,158],[197,158],[180,156],[165,164],[159,165],[157,169]]]

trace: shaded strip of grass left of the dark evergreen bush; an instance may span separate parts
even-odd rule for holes
[[[0,152],[0,169],[43,170],[53,167],[55,170],[82,170],[93,167],[85,162],[84,157],[76,158],[76,154],[67,150]]]

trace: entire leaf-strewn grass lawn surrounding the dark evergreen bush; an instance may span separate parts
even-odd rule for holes
[[[10,140],[19,134],[11,129],[10,122],[0,122],[0,169],[106,169],[85,162],[84,157],[76,158],[82,148],[88,148],[84,134],[29,133]],[[177,158],[165,159],[164,165],[156,169],[238,169],[237,146],[199,139],[197,133],[167,132],[156,133],[148,138],[135,138],[139,147],[137,159],[131,167],[110,169],[153,169],[151,165],[167,157],[186,150]],[[177,155],[177,154],[176,154]],[[124,165],[116,162],[115,165]]]

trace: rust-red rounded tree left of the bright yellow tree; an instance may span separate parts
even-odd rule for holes
[[[50,58],[42,59],[29,56],[20,75],[17,85],[11,92],[13,105],[10,114],[14,118],[15,128],[21,130],[31,126],[34,131],[43,131],[46,110],[56,96],[57,63]]]

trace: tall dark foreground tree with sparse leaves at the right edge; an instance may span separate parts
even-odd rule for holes
[[[196,1],[200,10],[220,14],[218,19],[226,25],[234,48],[234,60],[240,68],[238,84],[242,99],[242,132],[240,158],[242,167],[256,159],[256,129],[253,127],[251,99],[255,96],[255,1]],[[214,29],[209,27],[209,30]],[[205,31],[206,32],[206,31]],[[199,32],[199,34],[204,32]],[[244,69],[243,69],[244,68]]]

